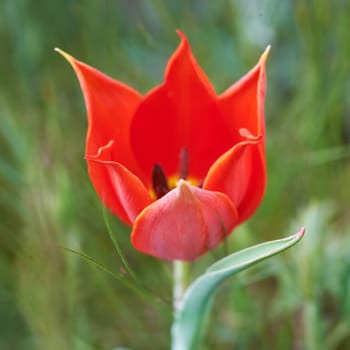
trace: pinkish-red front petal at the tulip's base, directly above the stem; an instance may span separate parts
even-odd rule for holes
[[[180,180],[147,207],[131,236],[136,249],[168,260],[193,261],[214,248],[237,224],[237,212],[222,193]]]

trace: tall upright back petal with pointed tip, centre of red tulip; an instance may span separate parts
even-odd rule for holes
[[[131,143],[142,169],[155,163],[166,175],[179,167],[181,149],[189,153],[191,176],[203,179],[210,165],[232,146],[217,96],[195,60],[186,37],[169,59],[165,82],[151,91],[136,110]]]

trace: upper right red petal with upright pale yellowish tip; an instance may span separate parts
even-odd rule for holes
[[[242,140],[238,134],[240,128],[248,129],[254,136],[265,133],[265,64],[269,50],[270,47],[250,72],[219,97],[223,118],[227,128],[236,132],[236,142]]]

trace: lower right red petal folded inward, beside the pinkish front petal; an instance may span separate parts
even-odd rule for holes
[[[239,223],[259,206],[266,187],[262,138],[243,141],[223,154],[210,168],[203,188],[225,193],[237,208]]]

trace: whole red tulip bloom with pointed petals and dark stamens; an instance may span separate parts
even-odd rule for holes
[[[217,95],[184,34],[146,95],[60,51],[88,115],[86,160],[105,205],[143,253],[192,261],[247,220],[266,185],[265,62]]]

